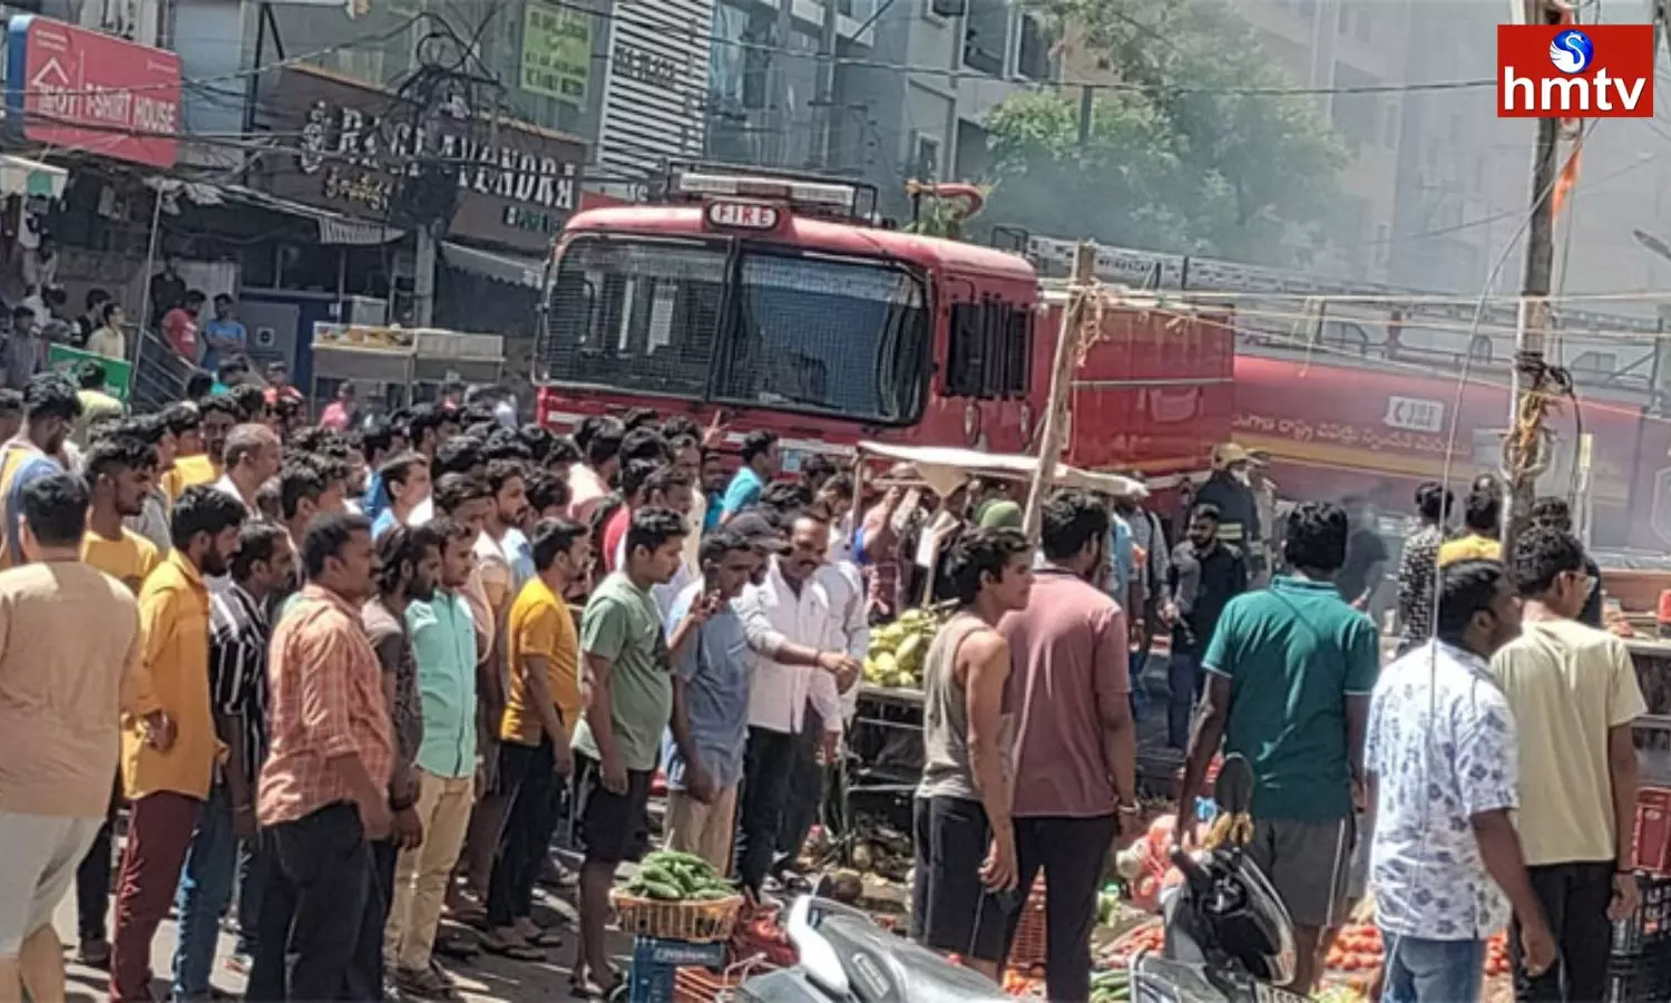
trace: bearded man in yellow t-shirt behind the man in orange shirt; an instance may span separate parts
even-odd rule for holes
[[[139,515],[157,475],[155,448],[125,436],[94,443],[84,458],[92,505],[82,560],[139,595],[139,587],[160,560],[157,545],[122,525]]]

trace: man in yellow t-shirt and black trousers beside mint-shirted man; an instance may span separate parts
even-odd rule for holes
[[[505,625],[510,692],[500,724],[500,782],[513,791],[488,883],[490,951],[543,946],[533,884],[556,829],[556,787],[573,772],[568,741],[580,720],[580,637],[563,602],[592,565],[587,527],[545,520],[533,530],[535,577]]]

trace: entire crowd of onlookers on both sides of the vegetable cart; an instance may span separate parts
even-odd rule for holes
[[[1211,757],[1247,754],[1297,988],[1364,894],[1355,846],[1399,1003],[1477,995],[1504,901],[1531,998],[1596,998],[1606,918],[1634,906],[1643,699],[1581,622],[1594,565],[1556,500],[1499,562],[1496,488],[1452,540],[1424,486],[1382,669],[1372,585],[1342,583],[1362,517],[1303,503],[1263,532],[1245,453],[1176,545],[1140,491],[1079,490],[1044,500],[1033,545],[1003,483],[785,473],[770,433],[732,460],[717,425],[648,410],[556,436],[449,401],[351,421],[349,398],[304,425],[282,373],[222,373],[155,415],[89,415],[85,376],[0,398],[3,998],[62,998],[72,886],[77,956],[120,1003],[152,998],[170,909],[182,1000],[216,991],[229,916],[252,1000],[453,998],[441,953],[551,956],[541,879],[578,888],[573,988],[607,995],[608,894],[652,839],[657,772],[670,848],[752,898],[792,889],[871,627],[922,598],[956,612],[924,659],[912,934],[983,971],[1043,873],[1049,998],[1088,998],[1160,630],[1176,831]]]

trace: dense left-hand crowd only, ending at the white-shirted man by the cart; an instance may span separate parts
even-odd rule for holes
[[[170,909],[182,1000],[216,991],[229,914],[249,998],[449,998],[438,951],[560,943],[543,878],[578,881],[575,988],[603,995],[658,767],[672,846],[732,869],[735,844],[750,893],[797,879],[800,781],[867,647],[862,578],[830,560],[851,481],[780,481],[765,435],[734,476],[719,430],[648,413],[566,438],[424,405],[344,433],[289,400],[239,381],[87,421],[43,373],[17,403],[0,996],[62,998],[74,884],[112,1000],[152,998]],[[578,876],[550,853],[565,819]],[[443,914],[481,936],[438,939]]]

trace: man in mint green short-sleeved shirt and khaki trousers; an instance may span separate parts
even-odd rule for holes
[[[401,851],[394,864],[384,956],[403,991],[433,1000],[449,990],[431,970],[429,953],[475,804],[476,619],[465,588],[478,533],[448,515],[429,527],[441,535],[441,583],[428,602],[406,605],[423,707],[416,804],[423,843]]]

